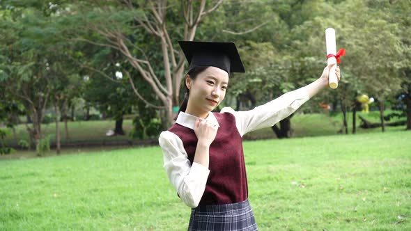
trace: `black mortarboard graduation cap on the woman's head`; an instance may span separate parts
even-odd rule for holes
[[[189,69],[197,66],[219,67],[228,73],[245,72],[234,42],[179,41]]]

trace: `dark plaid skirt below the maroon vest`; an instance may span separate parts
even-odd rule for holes
[[[192,209],[189,231],[258,230],[249,201],[226,205],[204,205]]]

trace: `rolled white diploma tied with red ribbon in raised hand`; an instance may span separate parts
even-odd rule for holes
[[[327,28],[325,30],[325,44],[327,45],[327,55],[336,55],[336,45],[335,45],[335,30],[332,28]],[[335,63],[334,66],[329,69],[328,75],[328,85],[330,88],[335,89],[339,86],[338,79],[336,78],[335,68],[336,68],[336,58],[331,57],[327,59],[327,65]]]

